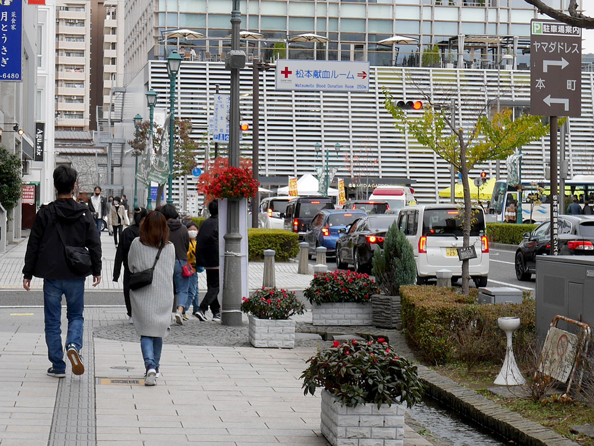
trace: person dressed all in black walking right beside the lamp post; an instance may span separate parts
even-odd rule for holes
[[[219,304],[219,203],[208,203],[210,217],[200,226],[196,238],[196,265],[206,268],[206,294],[200,303],[200,308],[194,313],[200,321],[208,321],[206,310],[210,306],[213,321],[221,320]]]

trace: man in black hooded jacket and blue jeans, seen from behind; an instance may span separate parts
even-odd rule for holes
[[[56,200],[41,206],[35,216],[23,268],[25,290],[30,290],[33,276],[43,278],[45,342],[52,363],[48,375],[56,378],[66,376],[60,329],[62,295],[66,298],[68,318],[66,354],[72,364],[72,373],[82,375],[84,280],[93,274],[93,287],[101,282],[99,231],[87,205],[72,199],[76,179],[77,171],[65,165],[59,165],[53,171]],[[90,266],[74,265],[67,258],[67,248],[72,252],[73,247],[88,250]]]

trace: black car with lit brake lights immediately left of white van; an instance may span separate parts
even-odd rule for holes
[[[353,265],[355,271],[369,271],[374,252],[384,249],[384,236],[397,218],[397,215],[368,215],[340,230],[344,235],[336,241],[337,268]]]

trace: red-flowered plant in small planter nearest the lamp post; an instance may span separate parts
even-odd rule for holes
[[[242,299],[241,310],[260,319],[289,319],[305,312],[294,291],[262,288]]]

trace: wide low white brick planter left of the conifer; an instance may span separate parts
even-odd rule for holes
[[[373,325],[371,303],[331,302],[313,304],[314,325]]]

